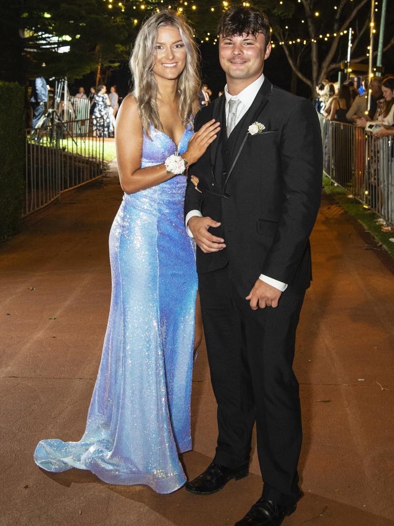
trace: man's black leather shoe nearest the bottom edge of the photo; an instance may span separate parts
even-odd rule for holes
[[[295,512],[297,502],[281,506],[272,500],[263,498],[253,504],[245,517],[235,523],[235,526],[281,526],[288,515]]]

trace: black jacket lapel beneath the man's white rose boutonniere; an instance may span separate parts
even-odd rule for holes
[[[251,107],[241,119],[241,122],[239,123],[239,129],[234,129],[234,131],[236,131],[236,136],[232,138],[233,134],[230,135],[229,150],[231,151],[231,156],[229,159],[229,170],[227,171],[227,177],[224,183],[223,191],[234,169],[235,163],[241,154],[241,150],[247,140],[247,128],[254,123],[257,115],[262,112],[264,106],[268,103],[269,96],[272,95],[272,89],[273,86],[271,82],[265,78],[261,88],[258,90],[257,95],[253,100]],[[235,142],[233,143],[231,139]]]

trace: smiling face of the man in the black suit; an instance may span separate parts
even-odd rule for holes
[[[220,35],[219,59],[227,80],[250,80],[252,83],[263,73],[264,60],[271,53],[271,44],[265,45],[263,33],[256,36]]]

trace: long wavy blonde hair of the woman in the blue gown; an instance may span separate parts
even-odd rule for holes
[[[180,92],[178,113],[183,126],[193,126],[190,116],[198,110],[198,93],[200,89],[199,49],[193,39],[193,29],[181,15],[168,9],[154,13],[142,25],[130,57],[130,70],[134,80],[133,95],[137,100],[137,107],[144,132],[148,137],[149,124],[164,131],[159,118],[156,104],[158,86],[153,75],[156,61],[156,42],[159,27],[171,26],[178,29],[182,42],[186,48],[186,65],[178,79]]]

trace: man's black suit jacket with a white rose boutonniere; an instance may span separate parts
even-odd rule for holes
[[[220,120],[225,130],[224,105],[223,96],[202,109],[195,130],[211,118]],[[248,126],[256,121],[265,129],[248,134]],[[221,227],[210,231],[226,243],[220,252],[197,249],[198,272],[229,264],[242,297],[260,274],[287,283],[286,295],[302,293],[310,285],[309,235],[320,204],[322,164],[320,126],[312,103],[265,78],[229,140],[216,138],[189,168],[189,176],[200,179],[202,193],[189,179],[185,216],[198,209],[221,221]]]

